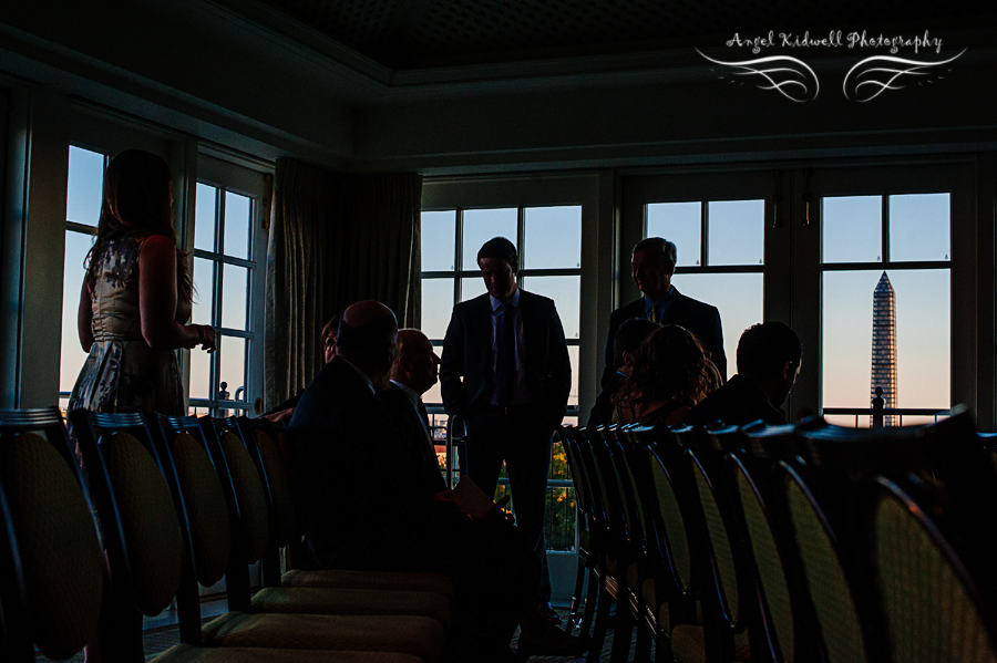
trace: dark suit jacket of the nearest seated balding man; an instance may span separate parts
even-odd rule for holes
[[[287,436],[315,566],[404,569],[408,550],[451,517],[403,428],[340,358],[302,394]]]

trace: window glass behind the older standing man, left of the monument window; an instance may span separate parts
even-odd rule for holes
[[[727,376],[733,375],[741,331],[762,320],[765,201],[651,203],[645,218],[645,237],[676,245],[676,290],[720,311]]]

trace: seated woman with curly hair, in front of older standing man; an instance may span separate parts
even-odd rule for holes
[[[634,371],[613,401],[613,424],[678,425],[712,386],[709,359],[687,329],[666,324],[637,350]]]

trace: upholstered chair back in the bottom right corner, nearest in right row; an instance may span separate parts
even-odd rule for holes
[[[877,484],[872,553],[891,659],[997,661],[991,604],[963,563],[957,539],[946,535],[944,505],[916,480],[880,477]]]

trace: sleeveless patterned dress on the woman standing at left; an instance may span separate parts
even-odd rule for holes
[[[158,412],[183,415],[184,391],[176,351],[152,349],[142,338],[138,318],[138,251],[146,232],[122,232],[104,244],[95,261],[91,292],[93,338],[80,371],[69,410]],[[191,298],[183,297],[177,265],[176,320],[191,318]]]

